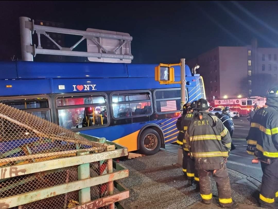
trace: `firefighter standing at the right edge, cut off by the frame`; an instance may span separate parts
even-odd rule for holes
[[[269,89],[266,107],[255,112],[247,136],[247,153],[261,161],[263,208],[278,208],[278,87]]]

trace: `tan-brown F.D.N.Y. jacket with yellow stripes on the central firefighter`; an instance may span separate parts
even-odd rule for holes
[[[197,170],[223,168],[224,157],[229,156],[232,140],[217,116],[199,111],[188,124],[185,139]]]

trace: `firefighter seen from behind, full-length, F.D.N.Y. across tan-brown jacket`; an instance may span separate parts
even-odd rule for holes
[[[215,115],[209,113],[206,99],[197,101],[198,113],[188,124],[186,142],[190,157],[195,160],[195,168],[200,179],[200,193],[205,204],[212,202],[210,175],[217,182],[219,206],[237,208],[238,204],[231,198],[230,180],[226,161],[231,149],[230,133]]]

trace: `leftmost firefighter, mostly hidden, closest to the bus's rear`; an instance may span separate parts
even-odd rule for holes
[[[191,105],[190,103],[183,105],[182,116],[180,116],[178,118],[177,123],[176,123],[177,129],[179,130],[177,144],[179,144],[182,147],[184,147],[183,146],[184,132],[183,132],[183,126],[182,126],[181,122],[182,122],[182,118],[185,117],[185,115],[187,114],[188,111],[190,111],[190,105]],[[183,149],[182,165],[183,165],[182,171],[183,171],[184,175],[186,175],[187,155],[186,156],[184,155],[184,149]]]

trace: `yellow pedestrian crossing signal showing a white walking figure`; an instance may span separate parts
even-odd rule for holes
[[[170,84],[175,81],[174,68],[169,64],[160,63],[155,67],[155,81],[160,84]]]

